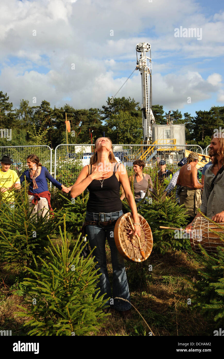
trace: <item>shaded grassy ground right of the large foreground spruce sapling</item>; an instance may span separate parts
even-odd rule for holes
[[[111,280],[109,258],[107,248]],[[151,272],[148,271],[149,264],[152,265]],[[126,262],[131,301],[154,335],[199,336],[213,332],[214,323],[206,321],[187,304],[192,282],[199,279],[199,268],[202,268],[202,265],[195,261],[192,255],[181,251],[169,251],[165,255],[154,253],[143,263]],[[148,327],[142,318],[134,309],[132,313],[133,318],[125,321],[112,309],[100,335],[148,335]]]

